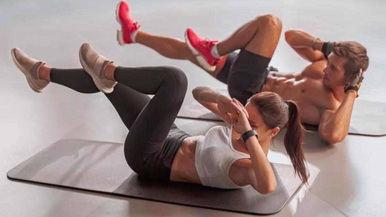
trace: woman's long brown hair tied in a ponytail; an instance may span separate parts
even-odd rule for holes
[[[284,101],[273,92],[261,92],[248,99],[256,106],[269,129],[287,127],[284,146],[291,159],[295,172],[303,183],[308,180],[305,158],[302,149],[304,127],[300,122],[299,107],[294,101]]]

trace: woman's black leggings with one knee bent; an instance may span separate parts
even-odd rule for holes
[[[189,136],[174,124],[188,86],[185,73],[169,66],[117,67],[114,78],[114,91],[105,95],[129,129],[127,163],[139,175],[169,180],[174,156]],[[53,68],[51,81],[80,93],[99,92],[84,69]]]

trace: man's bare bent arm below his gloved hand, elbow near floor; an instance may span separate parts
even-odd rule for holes
[[[347,91],[342,104],[335,112],[332,110],[323,111],[318,128],[323,140],[330,144],[344,140],[349,133],[351,113],[356,97],[356,91]]]

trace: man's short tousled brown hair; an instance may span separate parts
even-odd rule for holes
[[[369,67],[369,57],[367,56],[366,47],[363,47],[358,42],[337,42],[333,52],[337,56],[347,58],[347,62],[344,64],[344,75],[349,80],[354,79],[354,75],[359,73],[360,69],[364,72],[367,67]]]

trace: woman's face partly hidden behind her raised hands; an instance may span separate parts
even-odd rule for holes
[[[259,138],[257,139],[257,141],[262,142],[267,139],[270,140],[271,137],[269,137],[269,135],[273,137],[279,132],[278,127],[274,129],[269,129],[267,127],[267,125],[264,123],[264,120],[260,112],[257,110],[256,106],[254,106],[251,103],[247,103],[245,105],[245,109],[249,114],[249,118],[248,118],[249,124],[251,125],[252,129],[256,130],[257,134],[259,134]]]

